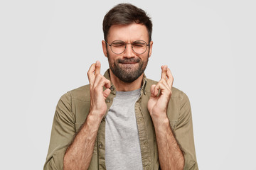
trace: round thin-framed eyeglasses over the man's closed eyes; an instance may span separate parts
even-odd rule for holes
[[[132,43],[126,43],[122,40],[114,40],[113,42],[111,42],[111,44],[107,43],[107,45],[110,46],[112,52],[117,55],[122,54],[125,51],[127,45],[129,44],[132,45],[132,50],[137,55],[142,55],[144,52],[146,52],[146,49],[149,46],[149,44],[146,44],[144,40],[136,40]]]

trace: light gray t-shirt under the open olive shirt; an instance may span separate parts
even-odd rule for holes
[[[140,90],[117,91],[106,116],[105,164],[108,170],[143,169],[134,104]]]

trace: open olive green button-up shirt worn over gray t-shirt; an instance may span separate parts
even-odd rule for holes
[[[110,79],[109,70],[104,76]],[[135,116],[139,132],[143,169],[160,169],[154,125],[147,109],[150,88],[157,81],[143,78],[139,100],[135,103]],[[116,90],[112,85],[106,98],[107,111],[112,105]],[[64,154],[90,110],[90,85],[82,86],[61,96],[53,118],[50,146],[44,170],[63,169]],[[182,91],[172,87],[167,110],[171,130],[181,147],[185,159],[184,169],[198,169],[193,140],[191,106]],[[89,169],[106,169],[105,166],[105,118],[100,123]]]

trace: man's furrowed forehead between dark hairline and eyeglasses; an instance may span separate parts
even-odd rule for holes
[[[149,34],[146,26],[139,23],[129,25],[114,25],[110,27],[107,40],[123,40],[124,42],[133,42],[134,40],[149,41]]]

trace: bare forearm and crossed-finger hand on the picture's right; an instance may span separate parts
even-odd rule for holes
[[[151,96],[148,102],[149,113],[156,132],[159,162],[161,169],[183,169],[183,154],[171,131],[166,114],[174,77],[166,65],[161,69],[161,79],[158,84],[151,86]],[[159,90],[161,91],[158,96]]]

